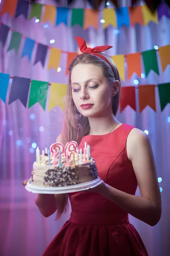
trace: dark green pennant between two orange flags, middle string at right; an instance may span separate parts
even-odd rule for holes
[[[155,71],[155,73],[159,75],[156,50],[152,49],[149,51],[144,51],[142,52],[142,57],[146,76],[149,74],[150,70]]]

